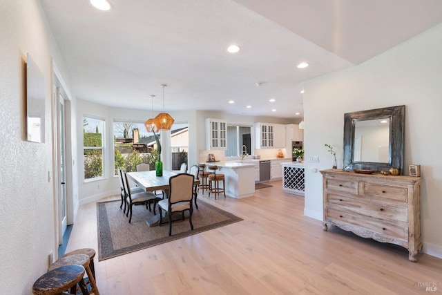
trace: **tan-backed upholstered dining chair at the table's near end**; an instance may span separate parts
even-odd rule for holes
[[[169,178],[169,198],[158,202],[158,209],[160,211],[159,225],[162,225],[162,211],[166,211],[169,218],[169,236],[172,236],[172,216],[174,213],[182,213],[182,220],[184,220],[184,212],[189,211],[189,223],[193,230],[193,181],[193,175],[187,173],[172,176]]]

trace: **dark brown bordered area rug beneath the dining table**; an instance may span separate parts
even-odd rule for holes
[[[199,201],[198,210],[193,207],[193,231],[186,213],[184,221],[173,222],[172,236],[169,236],[168,223],[161,227],[148,227],[146,220],[153,216],[153,211],[149,212],[144,206],[133,206],[132,220],[129,223],[123,210],[119,209],[120,202],[97,202],[98,260],[160,245],[242,220],[232,213]]]

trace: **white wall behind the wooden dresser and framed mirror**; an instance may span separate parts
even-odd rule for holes
[[[405,167],[421,164],[423,250],[442,258],[442,24],[365,63],[305,83],[305,215],[322,220],[320,173],[332,158],[324,144],[343,159],[344,113],[405,105]],[[318,229],[319,230],[319,229]]]

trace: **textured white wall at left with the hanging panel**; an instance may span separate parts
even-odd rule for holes
[[[0,1],[0,290],[30,294],[57,253],[52,171],[52,58],[63,63],[36,0]],[[45,143],[26,141],[25,62],[45,80]],[[50,175],[50,181],[48,180]]]

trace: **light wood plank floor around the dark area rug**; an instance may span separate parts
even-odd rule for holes
[[[439,294],[442,260],[303,216],[282,182],[236,200],[202,199],[244,220],[98,262],[101,294]],[[117,197],[114,197],[117,198]],[[111,198],[106,198],[110,200]],[[66,251],[97,250],[95,203],[79,209]],[[167,227],[164,227],[167,231]],[[436,287],[436,292],[425,291]]]

